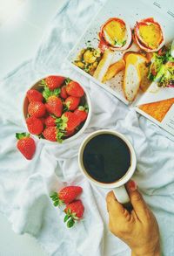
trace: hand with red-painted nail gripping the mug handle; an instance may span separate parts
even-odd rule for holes
[[[117,202],[113,191],[106,197],[109,228],[131,248],[132,256],[160,256],[157,220],[137,190],[136,183],[126,184],[133,210]]]

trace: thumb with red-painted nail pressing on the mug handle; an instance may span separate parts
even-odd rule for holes
[[[131,180],[126,184],[126,189],[130,196],[131,204],[137,215],[137,218],[143,220],[144,216],[147,215],[147,211],[149,210],[147,204],[144,201],[144,198],[137,190],[137,184]]]

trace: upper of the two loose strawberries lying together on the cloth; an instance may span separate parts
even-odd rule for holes
[[[82,188],[79,186],[67,186],[58,193],[54,192],[50,197],[55,206],[61,204],[70,204],[82,193]]]

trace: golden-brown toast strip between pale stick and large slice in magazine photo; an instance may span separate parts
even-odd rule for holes
[[[124,59],[120,59],[116,63],[110,65],[107,73],[104,76],[103,82],[112,79],[115,75],[117,75],[117,73],[124,70],[124,68],[125,68]]]

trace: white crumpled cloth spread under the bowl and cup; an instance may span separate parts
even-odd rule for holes
[[[77,151],[90,132],[115,129],[128,137],[137,154],[133,178],[157,217],[163,255],[174,255],[174,142],[173,137],[129,109],[120,100],[79,75],[64,59],[104,0],[71,0],[57,13],[43,38],[37,56],[18,66],[1,82],[0,89],[0,211],[17,233],[27,232],[55,256],[126,256],[130,249],[108,230],[105,195],[108,190],[91,185],[77,165]],[[16,132],[22,121],[24,93],[34,80],[64,73],[89,91],[92,118],[80,138],[55,146],[37,142],[37,152],[27,161],[16,149]],[[51,190],[63,185],[83,187],[84,220],[67,229],[64,213],[52,205]]]

